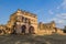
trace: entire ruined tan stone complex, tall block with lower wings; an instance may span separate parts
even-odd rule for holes
[[[55,26],[55,22],[42,23],[37,22],[36,14],[18,10],[10,15],[10,20],[6,25],[0,25],[0,34],[53,34],[63,32]]]

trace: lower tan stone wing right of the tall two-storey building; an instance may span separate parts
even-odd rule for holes
[[[56,28],[55,22],[51,23],[38,23],[38,35],[51,35],[51,34],[63,34],[63,30]]]

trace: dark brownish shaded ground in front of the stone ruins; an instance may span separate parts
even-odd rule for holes
[[[0,44],[66,44],[66,35],[1,35]]]

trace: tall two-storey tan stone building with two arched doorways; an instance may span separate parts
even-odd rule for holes
[[[22,10],[18,10],[10,16],[7,26],[15,33],[37,33],[37,16]]]

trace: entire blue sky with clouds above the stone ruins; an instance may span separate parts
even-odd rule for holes
[[[0,0],[0,24],[6,24],[18,9],[35,13],[38,22],[66,25],[66,0]]]

